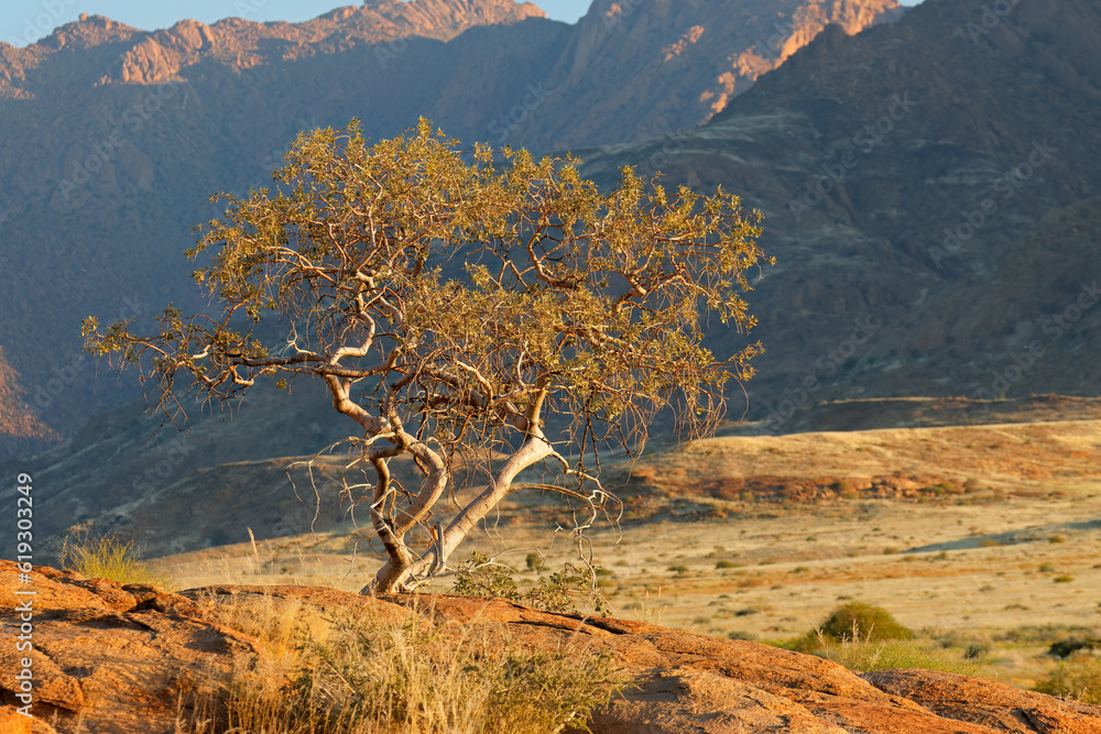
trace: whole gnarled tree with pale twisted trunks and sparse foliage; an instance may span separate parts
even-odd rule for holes
[[[386,554],[379,591],[446,569],[524,487],[567,495],[591,522],[611,497],[603,452],[637,450],[666,409],[706,432],[724,384],[752,375],[760,344],[717,359],[702,319],[753,325],[740,293],[764,256],[760,215],[737,197],[671,194],[630,167],[603,195],[578,163],[460,151],[425,120],[371,146],[356,121],[302,133],[274,190],[219,195],[226,213],[187,252],[209,256],[195,278],[216,315],[170,305],[152,336],[89,317],[86,349],[137,365],[161,409],[182,405],[178,375],[207,399],[323,380],[359,427],[349,441]],[[285,333],[277,347],[257,336],[264,319]],[[401,454],[421,486],[392,478]],[[559,479],[523,482],[536,467]],[[484,486],[448,516],[460,473]]]

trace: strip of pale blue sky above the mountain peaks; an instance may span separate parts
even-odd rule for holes
[[[574,23],[588,10],[591,0],[535,0],[556,20]],[[901,0],[914,6],[919,0]],[[167,28],[184,18],[214,23],[237,15],[254,21],[304,21],[334,8],[353,4],[330,0],[3,0],[0,3],[0,40],[25,46],[50,35],[53,29],[75,21],[80,13],[107,15],[143,30]]]

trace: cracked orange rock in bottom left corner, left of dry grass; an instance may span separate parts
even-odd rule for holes
[[[19,593],[25,591],[34,593]],[[21,611],[26,604],[30,613]],[[102,734],[172,732],[181,693],[201,684],[209,670],[228,672],[237,656],[255,655],[253,640],[193,616],[194,603],[153,587],[48,567],[24,576],[2,561],[0,606],[4,636],[22,634],[32,645],[0,649],[7,704],[0,722],[3,715],[9,725],[20,721],[12,709],[26,705],[17,694],[22,671],[30,670],[35,721],[23,731],[35,734],[75,732],[81,719],[80,731]]]

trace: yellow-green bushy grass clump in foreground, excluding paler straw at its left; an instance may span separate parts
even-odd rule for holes
[[[606,658],[456,649],[417,621],[382,628],[350,621],[294,681],[301,710],[411,732],[554,732],[610,698]]]

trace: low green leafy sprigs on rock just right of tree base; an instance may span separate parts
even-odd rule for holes
[[[516,571],[502,563],[491,562],[484,554],[473,552],[459,567],[458,578],[451,593],[462,596],[489,596],[506,599],[520,604],[534,606],[544,612],[577,614],[576,598],[591,604],[597,614],[611,613],[608,601],[596,591],[596,573],[592,567],[576,567],[565,563],[563,570],[539,579],[526,592],[521,592],[513,576]]]

